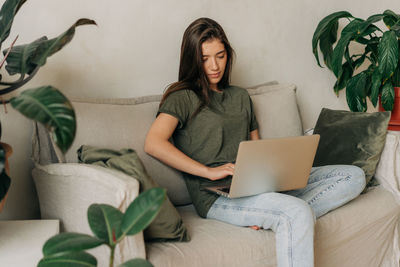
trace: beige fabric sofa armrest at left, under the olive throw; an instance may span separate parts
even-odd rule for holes
[[[122,172],[100,166],[57,163],[36,165],[32,171],[43,219],[59,219],[61,230],[93,235],[87,222],[87,209],[93,203],[109,204],[125,212],[139,195],[139,183]],[[90,251],[99,266],[107,266],[109,248]],[[117,246],[115,263],[145,258],[143,233],[126,237]]]

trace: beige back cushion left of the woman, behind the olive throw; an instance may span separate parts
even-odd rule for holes
[[[149,175],[160,186],[167,188],[172,203],[191,203],[181,174],[143,151],[146,133],[155,119],[160,96],[137,100],[73,101],[78,129],[74,143],[66,154],[66,161],[77,162],[76,151],[84,144],[110,149],[133,148]]]

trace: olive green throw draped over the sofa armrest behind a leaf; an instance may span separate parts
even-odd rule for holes
[[[112,150],[83,145],[78,149],[81,163],[94,164],[122,171],[139,181],[140,192],[159,185],[147,174],[142,161],[133,149]],[[144,231],[146,241],[189,241],[182,218],[171,201],[166,198],[160,213]]]

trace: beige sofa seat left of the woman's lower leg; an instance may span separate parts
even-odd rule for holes
[[[179,207],[191,241],[146,243],[154,266],[275,266],[272,231],[256,231],[216,220],[200,218],[193,205]],[[252,263],[252,265],[249,265]]]

